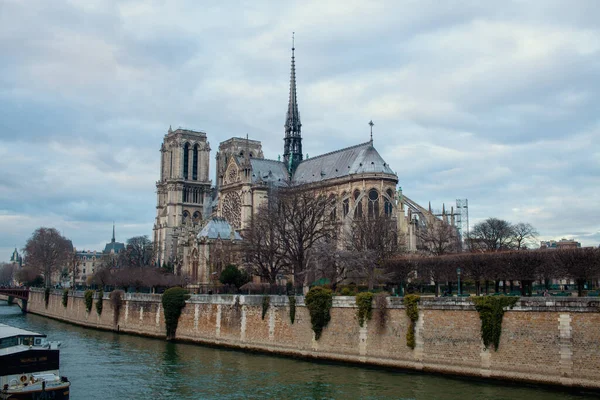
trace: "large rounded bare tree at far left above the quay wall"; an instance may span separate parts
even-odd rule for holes
[[[52,274],[67,262],[73,251],[71,241],[54,228],[38,228],[23,248],[25,264],[44,276],[46,287],[52,283]]]

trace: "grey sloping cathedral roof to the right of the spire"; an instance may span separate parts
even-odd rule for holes
[[[320,182],[354,174],[383,173],[396,176],[390,166],[366,142],[304,160],[294,173],[294,184]]]

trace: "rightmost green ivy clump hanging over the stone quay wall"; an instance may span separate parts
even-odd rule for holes
[[[502,318],[504,317],[504,308],[512,308],[518,297],[505,296],[481,296],[471,298],[475,304],[475,309],[481,319],[481,339],[486,349],[490,346],[498,351],[500,344],[500,334],[502,333]]]

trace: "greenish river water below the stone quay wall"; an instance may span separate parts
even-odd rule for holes
[[[582,399],[511,383],[316,363],[97,331],[22,314],[0,301],[0,323],[61,346],[71,399]]]

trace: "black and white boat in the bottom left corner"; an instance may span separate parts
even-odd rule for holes
[[[0,324],[0,399],[68,399],[71,383],[60,376],[59,345]]]

